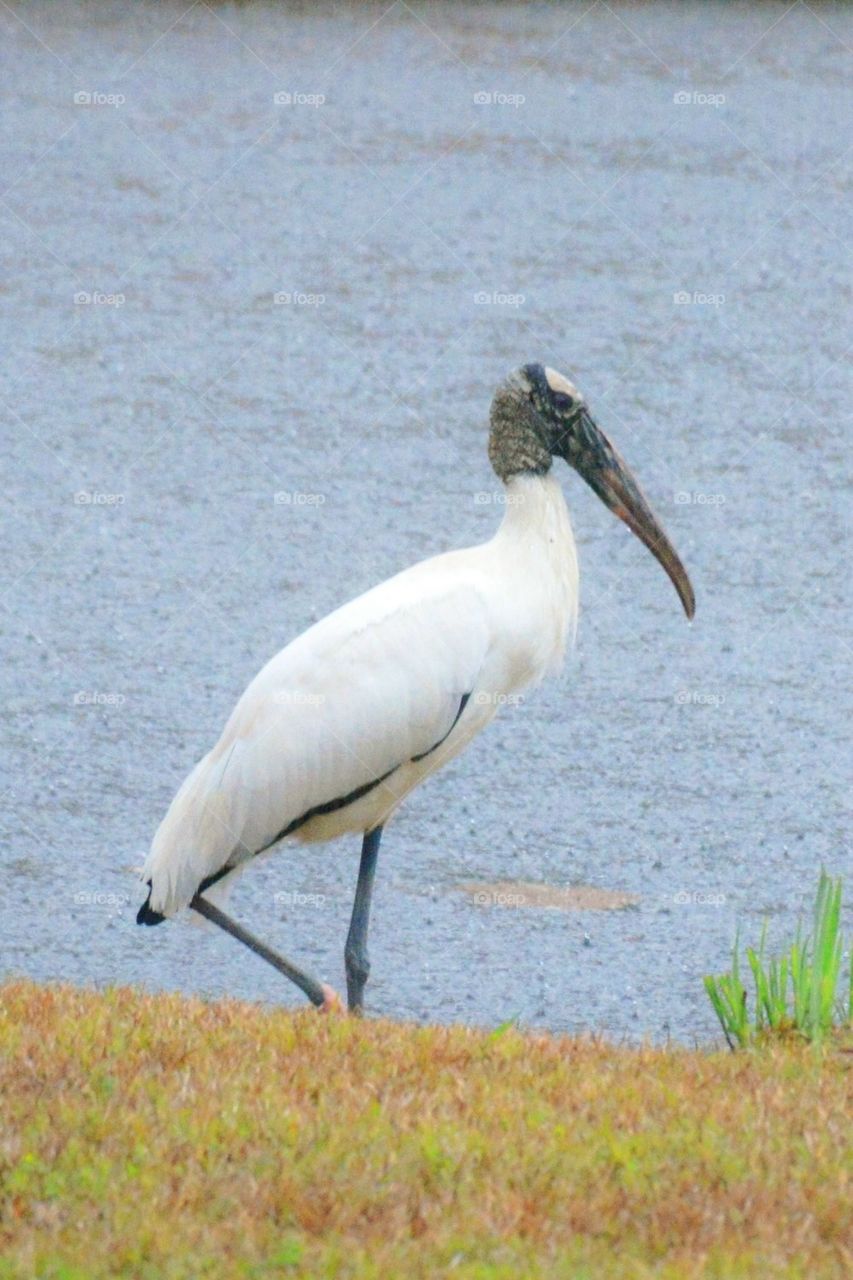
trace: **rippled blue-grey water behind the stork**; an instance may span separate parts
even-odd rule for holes
[[[738,922],[781,940],[850,870],[853,15],[184,9],[0,12],[4,970],[297,998],[224,936],[138,929],[129,868],[272,653],[491,535],[489,398],[542,360],[697,620],[566,472],[576,649],[388,828],[369,1002],[707,1038]],[[283,852],[233,910],[342,986],[356,867]]]

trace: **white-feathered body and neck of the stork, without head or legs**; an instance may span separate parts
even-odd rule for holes
[[[507,695],[560,667],[576,609],[560,485],[514,476],[489,541],[388,579],[259,672],[154,837],[151,909],[174,915],[286,833],[324,841],[384,823]]]

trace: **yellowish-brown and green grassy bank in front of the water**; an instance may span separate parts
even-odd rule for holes
[[[840,1276],[850,1056],[0,987],[0,1277]]]

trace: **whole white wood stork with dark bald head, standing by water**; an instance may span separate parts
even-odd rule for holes
[[[688,575],[637,481],[576,388],[532,364],[491,408],[489,460],[505,485],[494,536],[423,561],[315,623],[255,677],[222,737],[172,801],[142,868],[140,924],[191,906],[297,983],[320,1009],[332,988],[225,915],[213,886],[284,841],[362,835],[345,960],[360,1011],[370,897],[384,824],[507,695],[560,667],[574,637],[578,561],[551,471],[564,458],[646,543],[688,618]],[[215,895],[214,895],[215,896]]]

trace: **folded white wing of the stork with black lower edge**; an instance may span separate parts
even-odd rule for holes
[[[225,865],[450,732],[493,634],[488,586],[464,556],[374,588],[264,667],[155,836],[152,910],[173,914]]]

